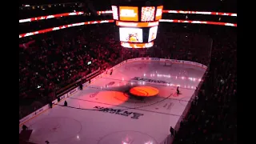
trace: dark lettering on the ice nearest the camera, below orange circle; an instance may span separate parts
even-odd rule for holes
[[[126,111],[126,110],[114,110],[114,109],[105,108],[105,107],[102,107],[102,106],[94,106],[94,108],[98,109],[102,112],[105,112],[105,113],[120,114],[120,115],[125,116],[125,117],[128,117],[129,115],[132,115],[132,117],[130,117],[130,118],[133,118],[133,119],[138,119],[140,116],[144,115],[144,114],[129,112],[129,111]]]

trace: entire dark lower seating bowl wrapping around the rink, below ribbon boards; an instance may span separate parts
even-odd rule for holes
[[[21,38],[20,117],[54,99],[54,90],[127,58],[182,59],[200,62],[210,69],[174,143],[235,143],[235,28],[190,25],[160,24],[158,38],[149,50],[123,49],[112,23]]]

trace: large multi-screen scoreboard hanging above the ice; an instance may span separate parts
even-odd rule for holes
[[[121,46],[150,48],[157,38],[163,6],[112,6]]]

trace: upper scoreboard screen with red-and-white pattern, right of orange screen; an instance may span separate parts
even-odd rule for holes
[[[142,22],[154,21],[154,6],[142,7]]]

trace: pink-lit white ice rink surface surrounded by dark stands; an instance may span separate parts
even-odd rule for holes
[[[205,69],[188,64],[127,62],[36,116],[25,125],[30,142],[45,144],[158,144],[182,117]],[[158,80],[158,81],[157,81]],[[152,97],[130,96],[134,86],[158,90]],[[180,86],[181,94],[176,94]],[[138,90],[140,94],[150,94]],[[20,128],[21,130],[21,128]]]

